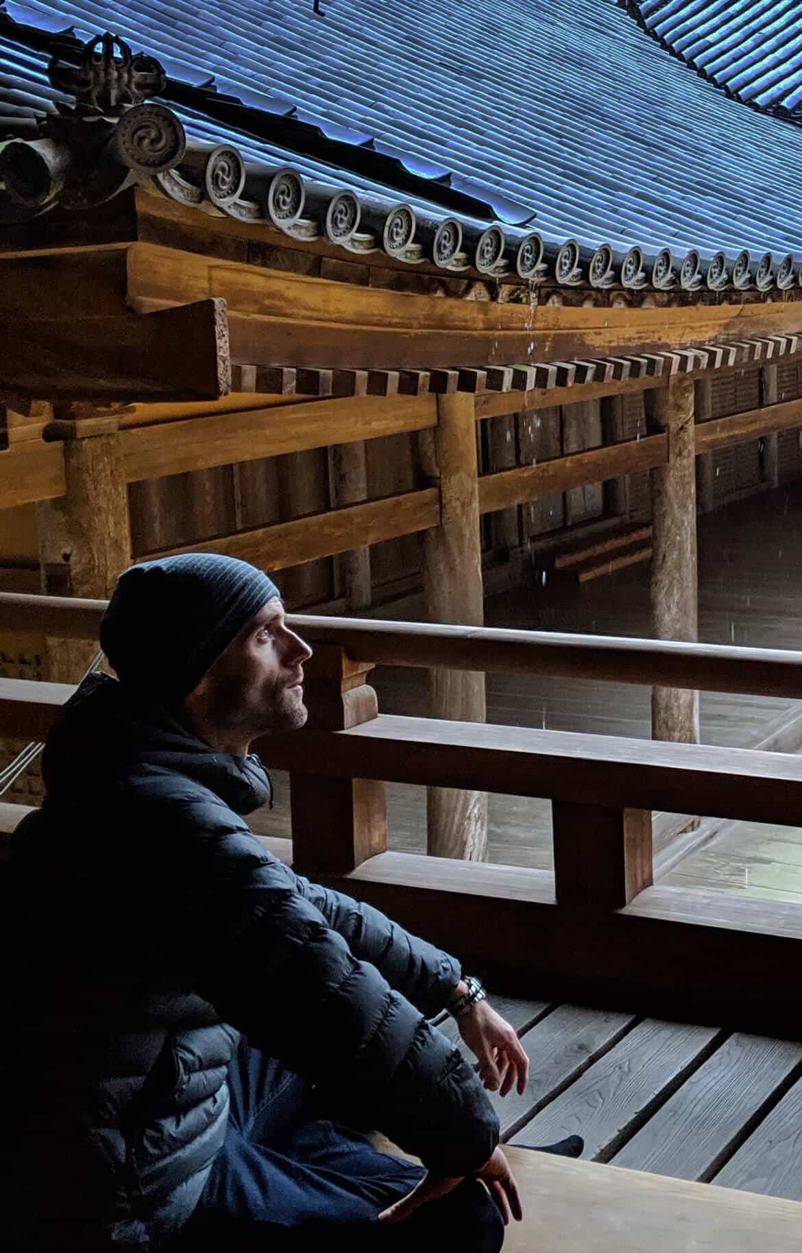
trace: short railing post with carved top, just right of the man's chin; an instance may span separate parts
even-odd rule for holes
[[[318,645],[305,665],[307,725],[347,730],[375,718],[376,693],[365,683],[372,668],[352,662],[336,645]],[[264,739],[264,753],[269,761],[269,737]],[[387,850],[383,783],[291,773],[289,806],[292,860],[301,875],[347,875]]]

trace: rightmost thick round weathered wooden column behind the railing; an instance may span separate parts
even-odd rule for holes
[[[652,630],[657,639],[698,639],[697,481],[693,380],[647,393],[649,419],[668,432],[668,464],[652,470]],[[699,693],[652,689],[652,737],[699,741]]]

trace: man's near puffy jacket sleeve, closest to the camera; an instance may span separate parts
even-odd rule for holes
[[[257,1048],[338,1094],[436,1174],[487,1160],[499,1120],[472,1068],[249,832],[206,832],[185,866],[182,947],[194,990]]]

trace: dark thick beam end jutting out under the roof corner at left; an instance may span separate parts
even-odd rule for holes
[[[46,321],[4,311],[0,345],[0,393],[8,396],[178,401],[216,398],[231,386],[221,299]]]

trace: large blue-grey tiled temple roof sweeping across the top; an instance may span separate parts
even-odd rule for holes
[[[802,259],[802,130],[688,74],[615,0],[316,8],[9,0],[41,39],[23,46],[0,18],[0,135],[64,99],[46,75],[54,33],[83,43],[112,23],[164,65],[189,135],[236,143],[246,160],[573,237],[588,256]]]

